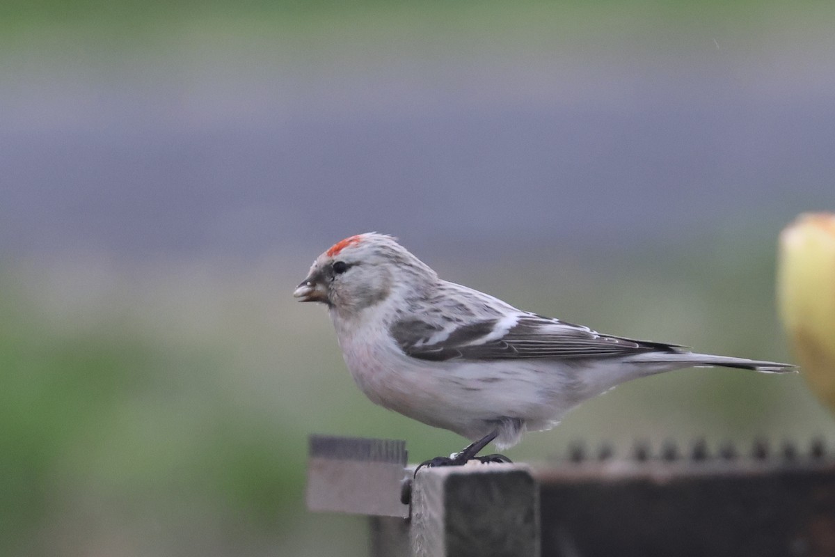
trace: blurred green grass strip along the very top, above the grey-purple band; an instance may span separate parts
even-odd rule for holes
[[[33,48],[67,41],[107,57],[106,49],[125,46],[182,48],[203,36],[211,43],[237,43],[240,38],[270,38],[290,43],[294,54],[321,53],[333,45],[372,47],[367,54],[408,53],[411,48],[433,51],[449,45],[463,53],[507,54],[518,48],[569,47],[599,49],[613,43],[633,43],[647,56],[655,49],[701,43],[704,34],[767,38],[787,26],[802,27],[831,16],[827,3],[806,3],[797,9],[770,0],[597,0],[547,3],[456,2],[438,0],[355,3],[250,0],[210,2],[101,2],[99,0],[7,0],[0,3],[0,44]],[[694,34],[695,33],[695,34]],[[174,39],[173,41],[171,39]],[[433,40],[439,41],[434,46]],[[579,42],[578,42],[579,41]],[[407,48],[403,48],[407,45]],[[240,44],[239,44],[240,46]],[[379,52],[377,48],[380,48]],[[153,47],[152,47],[153,48]],[[470,50],[472,48],[472,50]],[[361,48],[361,50],[365,50]],[[438,52],[440,54],[440,52]],[[281,56],[282,53],[276,53]]]

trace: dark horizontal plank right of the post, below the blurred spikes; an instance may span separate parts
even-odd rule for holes
[[[537,468],[544,557],[835,555],[835,463]]]

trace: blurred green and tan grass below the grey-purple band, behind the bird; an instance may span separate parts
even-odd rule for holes
[[[596,263],[506,256],[498,275],[492,259],[426,258],[453,280],[606,332],[784,360],[763,237]],[[406,438],[412,460],[462,440],[352,385],[324,311],[291,299],[307,259],[88,254],[7,269],[0,552],[362,554],[361,520],[303,510],[306,435]],[[590,401],[509,455],[548,458],[575,438],[625,448],[831,430],[798,377],[682,371]]]

